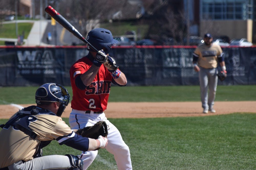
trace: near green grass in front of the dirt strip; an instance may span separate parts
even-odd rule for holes
[[[256,168],[256,114],[109,120],[130,148],[133,169]],[[56,141],[43,151],[80,154]],[[100,149],[89,169],[117,168],[113,155]]]

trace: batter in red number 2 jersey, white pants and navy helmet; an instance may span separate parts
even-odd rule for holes
[[[72,112],[69,123],[72,128],[92,126],[98,121],[105,121],[108,129],[108,146],[106,150],[114,155],[118,169],[132,169],[129,147],[125,144],[119,130],[105,117],[111,83],[125,86],[126,77],[119,69],[111,66],[115,60],[108,56],[111,45],[118,43],[112,33],[104,28],[95,28],[88,33],[87,41],[98,53],[91,50],[89,54],[76,61],[70,68],[70,80],[73,90]],[[98,151],[82,152],[80,157],[87,169]]]

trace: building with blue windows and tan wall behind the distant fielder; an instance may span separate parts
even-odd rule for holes
[[[256,42],[255,4],[256,0],[201,0],[200,36],[210,32]]]

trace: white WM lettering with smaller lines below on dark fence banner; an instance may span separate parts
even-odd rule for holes
[[[18,70],[21,75],[55,74],[55,60],[50,50],[17,51]]]

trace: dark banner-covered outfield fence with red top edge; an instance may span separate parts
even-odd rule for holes
[[[199,85],[193,69],[196,46],[117,46],[110,56],[127,85]],[[221,85],[256,84],[256,48],[222,48],[227,79]],[[88,54],[85,46],[0,47],[0,86],[71,85],[70,66]]]

